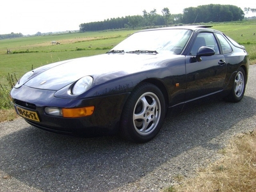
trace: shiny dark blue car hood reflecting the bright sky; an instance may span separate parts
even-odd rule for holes
[[[84,76],[92,76],[93,83],[97,84],[125,76],[125,74],[157,68],[159,57],[163,56],[159,54],[102,54],[61,61],[35,69],[33,76],[25,84],[31,88],[57,91]]]

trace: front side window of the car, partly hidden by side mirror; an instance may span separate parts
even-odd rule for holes
[[[199,33],[196,37],[190,54],[196,55],[198,49],[202,46],[211,47],[212,49],[214,49],[215,54],[220,54],[218,44],[213,33]]]

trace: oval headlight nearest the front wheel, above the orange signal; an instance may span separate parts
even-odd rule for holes
[[[86,92],[92,85],[93,78],[90,76],[82,77],[79,79],[72,88],[73,95],[79,95]]]

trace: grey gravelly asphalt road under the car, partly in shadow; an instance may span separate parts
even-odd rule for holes
[[[168,115],[145,144],[116,136],[74,138],[22,118],[0,124],[0,191],[161,191],[221,155],[228,139],[256,127],[256,65],[233,104],[212,101]]]

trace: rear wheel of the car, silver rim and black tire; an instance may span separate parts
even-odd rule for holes
[[[243,99],[244,92],[246,87],[246,75],[243,68],[239,68],[234,79],[234,84],[232,90],[225,98],[228,102],[239,102]]]

